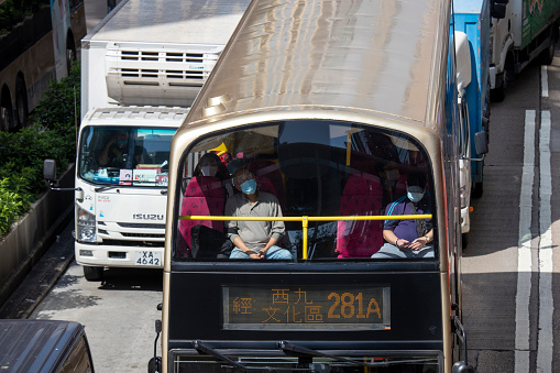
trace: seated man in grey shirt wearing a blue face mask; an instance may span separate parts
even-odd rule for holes
[[[233,175],[234,194],[226,202],[229,217],[282,217],[276,197],[257,190],[254,175],[244,168]],[[230,259],[281,259],[292,260],[292,253],[276,245],[284,234],[284,221],[239,221],[227,222],[228,238],[235,248]]]

